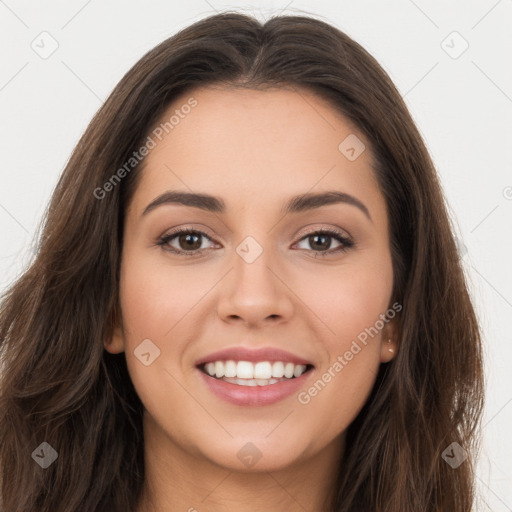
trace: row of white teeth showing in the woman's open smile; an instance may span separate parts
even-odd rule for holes
[[[230,382],[237,379],[246,379],[244,385],[260,385],[274,384],[274,379],[282,379],[283,377],[291,379],[292,377],[300,377],[306,371],[306,365],[293,364],[282,361],[271,363],[269,361],[259,361],[252,363],[250,361],[212,361],[204,366],[206,373],[211,377],[216,377]],[[254,380],[254,384],[251,381]],[[262,384],[259,384],[261,381]]]

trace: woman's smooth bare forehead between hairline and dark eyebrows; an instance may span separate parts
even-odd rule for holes
[[[152,130],[138,211],[168,189],[223,197],[228,209],[282,206],[292,195],[328,189],[383,201],[364,136],[303,89],[197,88],[177,97]],[[364,144],[355,160],[343,153],[347,140],[360,144],[357,152]]]

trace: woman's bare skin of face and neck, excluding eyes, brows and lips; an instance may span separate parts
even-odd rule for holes
[[[199,88],[162,119],[190,96],[197,106],[146,157],[129,205],[122,325],[105,342],[112,353],[126,352],[145,406],[146,485],[137,512],[326,510],[345,431],[379,365],[396,353],[394,321],[308,404],[296,394],[265,406],[230,404],[208,390],[195,361],[230,346],[279,347],[314,364],[307,390],[391,307],[388,216],[369,143],[306,91]],[[355,161],[338,150],[349,134],[366,145]],[[218,196],[226,212],[166,204],[142,216],[167,190]],[[358,198],[371,220],[345,203],[280,212],[291,196],[327,190]],[[192,244],[203,254],[158,246],[175,227],[205,231],[210,238]],[[319,257],[307,235],[325,228],[356,245],[332,252],[341,244],[327,238],[331,254]],[[236,252],[247,236],[263,248],[250,264]],[[188,248],[179,236],[169,244]],[[144,339],[160,350],[149,366],[134,355]],[[262,454],[252,467],[237,457],[249,442]]]

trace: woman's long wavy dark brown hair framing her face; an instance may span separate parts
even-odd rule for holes
[[[0,496],[9,512],[135,510],[142,403],[119,318],[123,220],[141,165],[104,197],[169,103],[193,87],[292,87],[329,100],[370,142],[390,218],[399,350],[347,432],[336,512],[468,512],[483,405],[479,325],[442,189],[376,60],[322,21],[225,12],[148,52],[94,116],[55,188],[37,254],[0,309]],[[103,190],[107,190],[104,187]],[[58,454],[42,469],[36,456]],[[452,445],[457,443],[457,445]],[[442,456],[452,446],[467,459]],[[45,451],[46,450],[46,451]],[[462,450],[462,451],[461,451]]]

